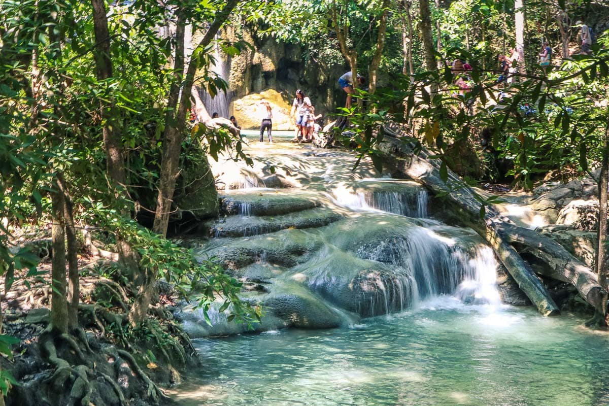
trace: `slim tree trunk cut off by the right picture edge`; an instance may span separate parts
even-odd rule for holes
[[[607,114],[609,119],[609,110]],[[609,124],[605,126],[605,137],[603,139],[603,155],[602,162],[600,164],[599,174],[599,230],[597,232],[597,243],[596,247],[596,274],[599,276],[599,284],[607,289],[607,188],[609,183]],[[600,315],[607,324],[607,297],[605,296],[603,302],[604,307],[600,309]]]

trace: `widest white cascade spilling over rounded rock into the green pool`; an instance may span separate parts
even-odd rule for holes
[[[464,304],[501,303],[496,289],[497,262],[488,247],[476,247],[473,253],[467,253],[450,239],[417,227],[403,239],[362,247],[357,256],[389,264],[395,270],[391,277],[368,278],[367,285],[362,286],[373,292],[362,298],[362,315],[417,307],[438,296],[452,296]]]

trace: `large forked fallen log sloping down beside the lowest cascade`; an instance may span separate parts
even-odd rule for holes
[[[480,219],[481,201],[456,173],[448,169],[448,181],[443,181],[440,177],[439,159],[428,159],[429,153],[425,150],[418,154],[412,152],[411,144],[399,139],[404,136],[400,128],[387,126],[384,130],[385,139],[379,145],[385,158],[384,163],[390,169],[398,170],[423,184],[435,194],[444,195],[452,204],[463,209],[468,217],[466,221],[490,243],[499,260],[542,315],[557,315],[560,310],[515,246],[545,262],[547,267],[543,275],[573,284],[591,306],[595,309],[602,308],[607,293],[599,285],[596,274],[583,262],[549,237],[515,225],[492,206],[485,209],[484,219]],[[459,184],[460,187],[452,188],[451,183]]]

